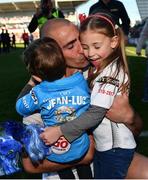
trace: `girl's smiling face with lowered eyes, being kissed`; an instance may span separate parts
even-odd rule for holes
[[[92,30],[81,33],[80,40],[85,56],[95,67],[98,67],[100,62],[106,59],[118,44],[117,36],[110,38]]]

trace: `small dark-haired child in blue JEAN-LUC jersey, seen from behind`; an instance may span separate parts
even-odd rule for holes
[[[40,111],[47,127],[71,121],[88,109],[90,92],[87,82],[80,72],[65,78],[66,62],[55,40],[43,38],[34,41],[24,52],[24,62],[39,84],[17,100],[16,110],[20,115],[28,116]],[[47,159],[60,163],[75,162],[85,155],[88,147],[86,133],[71,144],[61,137],[51,146],[52,152]]]

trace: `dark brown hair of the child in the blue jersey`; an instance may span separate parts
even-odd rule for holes
[[[37,39],[24,51],[24,63],[42,80],[55,81],[66,73],[66,61],[58,43],[49,37]]]

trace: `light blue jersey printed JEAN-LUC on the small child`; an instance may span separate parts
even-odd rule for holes
[[[90,91],[81,73],[54,82],[43,81],[29,94],[20,98],[16,110],[28,116],[39,110],[47,126],[72,121],[85,112],[90,104]],[[61,137],[52,147],[47,158],[54,162],[67,163],[81,158],[88,150],[89,138],[86,133],[71,144]]]

